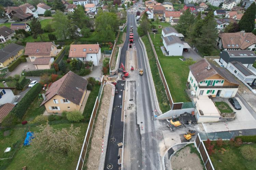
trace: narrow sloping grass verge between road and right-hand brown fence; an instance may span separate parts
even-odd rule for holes
[[[157,65],[156,65],[156,59],[154,57],[154,52],[151,48],[150,45],[150,41],[148,39],[148,37],[145,35],[143,37],[141,37],[145,47],[146,47],[146,51],[147,51],[147,57],[148,57],[148,62],[150,64],[150,69],[152,72],[152,78],[154,81],[154,85],[155,85],[155,90],[156,90],[156,96],[157,96],[157,100],[158,100],[158,104],[159,107],[162,111],[162,113],[165,113],[167,111],[169,111],[170,108],[170,104],[165,92],[165,87],[163,86]]]

